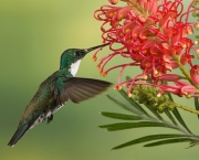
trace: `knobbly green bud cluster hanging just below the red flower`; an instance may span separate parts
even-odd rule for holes
[[[158,89],[148,85],[136,85],[132,87],[133,98],[139,104],[154,107],[159,114],[166,109],[172,110],[175,105],[171,105],[167,94],[158,94]]]

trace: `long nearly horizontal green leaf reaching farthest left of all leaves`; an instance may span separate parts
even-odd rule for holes
[[[142,128],[142,127],[166,127],[177,129],[170,125],[164,122],[155,122],[155,121],[138,121],[138,122],[118,122],[111,125],[98,126],[100,128],[106,128],[107,131],[123,130],[123,129],[132,129],[132,128]]]

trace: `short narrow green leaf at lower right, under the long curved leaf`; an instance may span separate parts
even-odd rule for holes
[[[195,139],[192,138],[175,138],[175,139],[167,139],[167,140],[160,140],[151,143],[147,143],[144,147],[155,147],[155,146],[160,146],[160,145],[168,145],[168,143],[176,143],[176,142],[191,142]]]

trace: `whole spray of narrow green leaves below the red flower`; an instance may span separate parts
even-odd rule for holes
[[[147,104],[138,104],[133,97],[126,96],[124,89],[119,90],[123,97],[118,97],[108,94],[107,97],[127,110],[129,114],[107,113],[102,111],[101,114],[108,118],[124,120],[123,122],[109,124],[100,126],[107,131],[117,131],[124,129],[143,128],[143,127],[164,127],[169,129],[178,130],[179,134],[157,134],[140,137],[125,143],[118,145],[113,149],[121,149],[124,147],[138,145],[145,142],[144,147],[155,147],[160,145],[177,143],[177,142],[189,142],[189,147],[199,143],[199,136],[193,135],[186,122],[184,121],[178,109],[175,107],[172,110],[165,109],[165,114],[168,117],[167,120],[151,106]],[[172,100],[170,94],[168,94],[169,100]],[[196,109],[199,109],[198,98],[195,98]],[[146,109],[147,108],[147,109]]]

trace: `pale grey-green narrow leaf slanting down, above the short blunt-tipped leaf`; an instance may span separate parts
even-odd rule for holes
[[[111,95],[108,94],[107,97],[113,100],[114,103],[116,103],[117,105],[119,105],[121,107],[123,107],[124,109],[132,111],[136,115],[143,115],[143,113],[140,113],[137,108],[135,108],[134,106],[132,106],[129,103],[127,103],[125,99],[116,97],[115,95]]]

